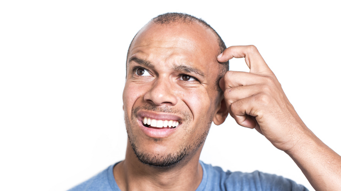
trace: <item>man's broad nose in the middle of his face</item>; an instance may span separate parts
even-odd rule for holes
[[[159,77],[145,93],[144,100],[157,106],[176,105],[177,98],[173,92],[174,88],[172,88],[171,82]]]

